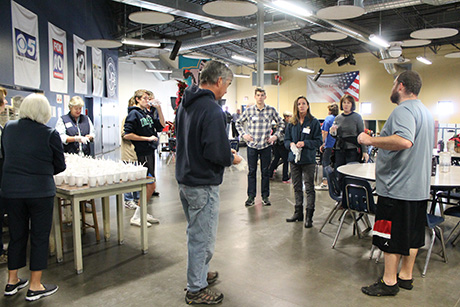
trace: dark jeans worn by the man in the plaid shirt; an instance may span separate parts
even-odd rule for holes
[[[270,196],[270,174],[268,167],[272,158],[272,147],[254,149],[248,147],[248,196],[256,197],[257,186],[257,160],[260,157],[262,171],[262,197]]]

